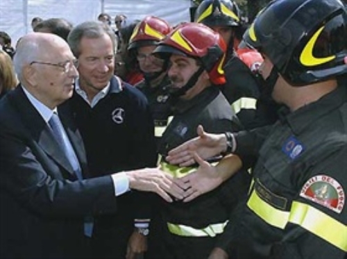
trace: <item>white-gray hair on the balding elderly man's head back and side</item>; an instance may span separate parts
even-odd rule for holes
[[[40,54],[39,44],[33,40],[19,40],[15,56],[13,57],[13,65],[19,81],[23,80],[23,68],[35,61]]]

